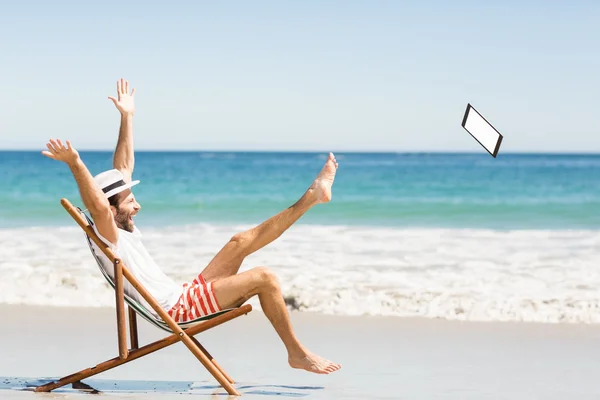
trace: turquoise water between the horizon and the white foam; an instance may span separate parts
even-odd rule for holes
[[[111,152],[81,152],[97,174]],[[326,153],[137,152],[137,223],[257,223],[291,205]],[[299,223],[571,229],[600,226],[600,155],[336,153],[334,201]],[[0,152],[0,227],[72,225],[69,169],[39,152]]]

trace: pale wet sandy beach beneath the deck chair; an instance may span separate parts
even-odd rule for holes
[[[79,396],[22,391],[116,355],[114,310],[1,306],[0,397]],[[312,375],[286,364],[275,332],[253,311],[197,338],[237,380],[243,398],[592,399],[600,395],[600,326],[452,322],[292,313],[299,338],[343,365]],[[142,344],[163,335],[139,323]],[[22,379],[26,378],[26,379]],[[85,381],[113,397],[170,398],[224,391],[180,343]],[[179,398],[179,397],[177,397]]]

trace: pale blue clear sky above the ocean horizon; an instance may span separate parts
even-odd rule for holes
[[[84,4],[85,3],[85,4]],[[600,151],[600,3],[11,2],[2,149],[112,149],[117,79],[137,149]]]

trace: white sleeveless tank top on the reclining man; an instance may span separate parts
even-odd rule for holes
[[[119,229],[117,246],[102,237],[96,229],[96,225],[93,225],[93,228],[100,240],[106,243],[115,255],[123,260],[123,263],[131,274],[135,276],[165,311],[170,310],[177,303],[183,291],[183,285],[176,284],[175,281],[165,275],[152,259],[142,242],[142,234],[137,227],[133,228],[133,233]],[[103,269],[114,282],[113,264],[93,241],[92,246],[94,252],[102,261]],[[123,288],[127,296],[142,304],[156,318],[160,319],[160,316],[156,311],[150,307],[138,291],[125,278],[123,278]]]

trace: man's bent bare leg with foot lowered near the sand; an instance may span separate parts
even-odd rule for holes
[[[308,351],[296,338],[283,301],[279,282],[266,268],[253,268],[213,283],[213,290],[221,308],[238,307],[258,295],[260,305],[283,341],[292,368],[305,369],[317,374],[337,371],[341,365]]]

